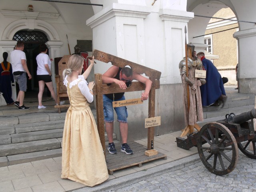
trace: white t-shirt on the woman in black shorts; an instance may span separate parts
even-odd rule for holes
[[[49,56],[45,53],[40,53],[38,56],[36,56],[36,62],[37,62],[37,75],[49,75],[48,71],[45,68],[45,64],[48,64],[50,70],[51,70],[51,60]]]

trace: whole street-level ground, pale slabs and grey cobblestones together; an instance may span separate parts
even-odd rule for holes
[[[225,87],[226,89],[226,87]],[[234,90],[234,86],[227,87]],[[226,90],[227,90],[226,89]],[[234,90],[237,91],[237,90]],[[31,102],[31,112],[38,111],[37,103]],[[13,108],[15,108],[13,106]],[[16,109],[17,110],[17,109]],[[52,109],[56,110],[56,109]],[[8,115],[11,110],[3,111]],[[92,188],[60,178],[61,157],[17,164],[0,168],[0,192],[77,192],[90,191],[256,191],[253,160],[240,156],[237,168],[226,176],[215,176],[206,170],[199,160],[197,148],[183,150],[176,145],[181,132],[156,136],[155,149],[166,154],[167,160],[159,159],[117,170],[109,179]],[[147,139],[136,142],[147,146]],[[239,173],[238,173],[239,172]],[[124,186],[126,184],[126,186]],[[79,189],[82,188],[82,189]],[[121,188],[121,189],[119,189]]]

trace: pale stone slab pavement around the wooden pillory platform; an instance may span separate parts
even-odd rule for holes
[[[142,167],[132,166],[126,169],[114,171],[113,175],[109,176],[108,181],[123,176],[132,176],[136,173],[144,173],[146,169],[158,167],[168,162],[176,164],[184,157],[189,157],[192,154],[197,154],[197,148],[193,147],[190,150],[183,150],[176,145],[176,137],[180,136],[181,132],[173,132],[161,136],[155,136],[154,146],[159,152],[166,154],[167,160],[158,159],[142,164]],[[136,140],[136,142],[147,146],[147,138]],[[116,142],[118,143],[118,142]],[[198,158],[198,155],[197,155]],[[186,160],[186,163],[190,160]],[[85,187],[83,184],[73,182],[68,179],[60,178],[61,173],[61,157],[49,158],[34,162],[11,165],[0,168],[0,192],[65,192],[72,191],[78,188]],[[102,186],[102,185],[99,185]],[[85,187],[85,191],[93,188]]]

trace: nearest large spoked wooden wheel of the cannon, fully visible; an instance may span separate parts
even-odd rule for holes
[[[197,150],[204,166],[216,175],[236,168],[238,147],[232,132],[218,122],[204,125],[197,137]]]

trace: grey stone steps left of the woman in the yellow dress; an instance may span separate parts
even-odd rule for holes
[[[61,156],[65,116],[56,110],[0,116],[0,167]]]

